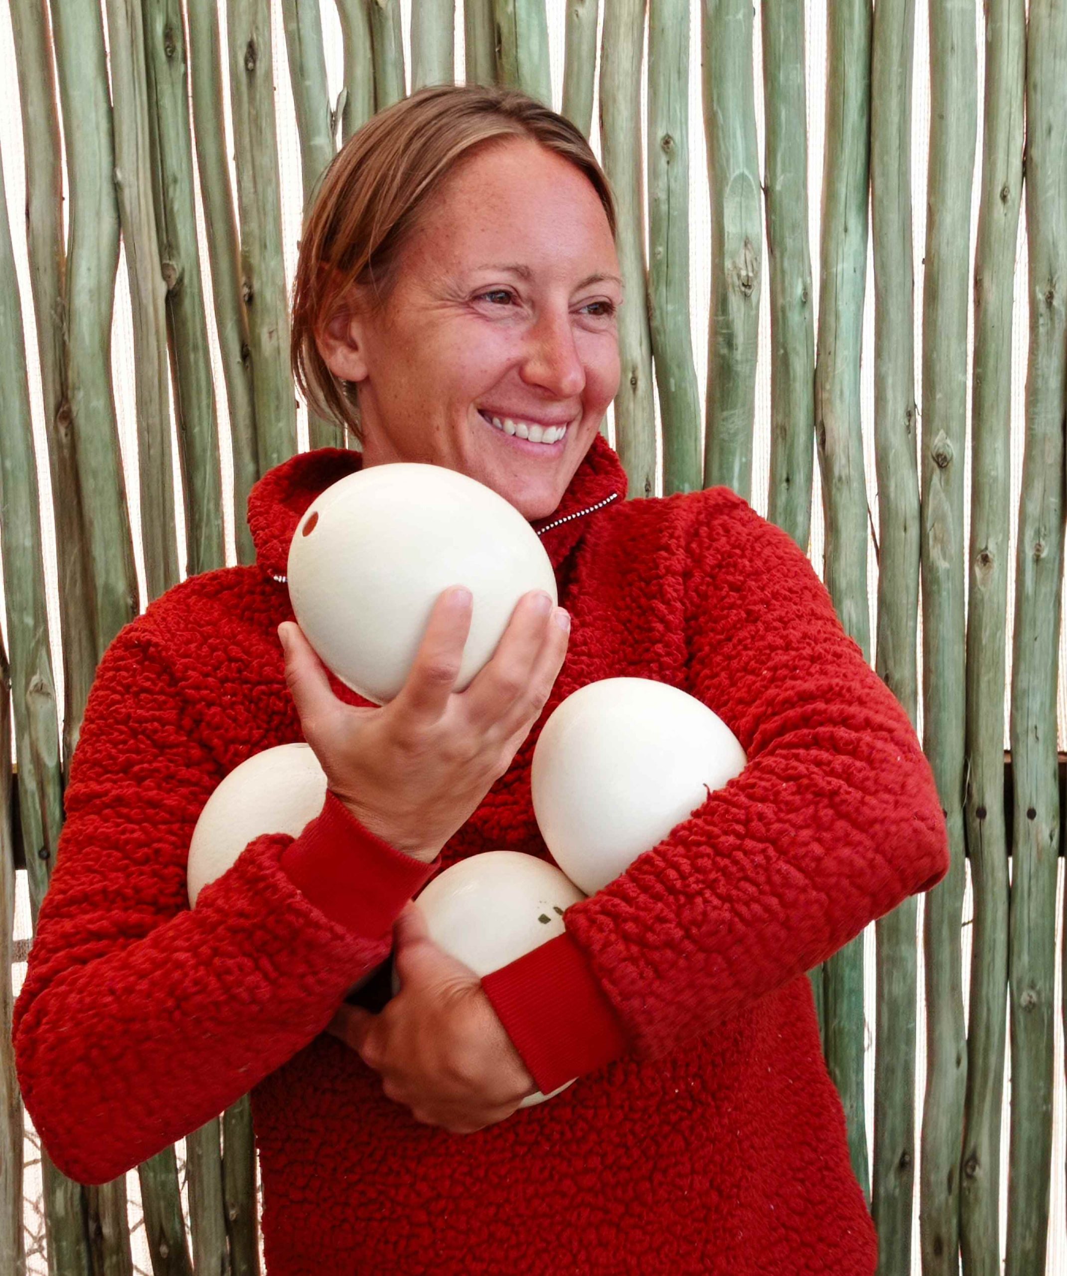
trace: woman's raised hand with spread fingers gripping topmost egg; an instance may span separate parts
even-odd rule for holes
[[[470,591],[447,590],[407,681],[382,708],[340,701],[300,627],[278,625],[304,739],[331,791],[373,833],[425,863],[508,769],[567,653],[567,612],[546,593],[526,593],[493,658],[453,692],[470,625]]]

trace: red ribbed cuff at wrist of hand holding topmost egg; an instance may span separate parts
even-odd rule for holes
[[[440,866],[383,842],[327,791],[322,814],[285,849],[282,872],[333,921],[359,935],[388,934],[405,903]]]

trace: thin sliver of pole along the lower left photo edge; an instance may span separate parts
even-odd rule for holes
[[[23,1230],[23,1113],[11,1046],[14,995],[15,843],[11,796],[10,680],[8,653],[0,641],[0,1271],[26,1276]]]

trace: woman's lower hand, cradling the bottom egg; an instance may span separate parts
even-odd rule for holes
[[[424,1125],[474,1134],[537,1092],[475,972],[429,937],[408,903],[393,928],[399,993],[380,1014],[343,1003],[328,1031],[382,1074]]]

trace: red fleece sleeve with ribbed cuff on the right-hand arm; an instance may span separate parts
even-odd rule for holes
[[[790,537],[699,494],[685,689],[748,763],[659,846],[482,980],[548,1094],[653,1059],[817,966],[948,872],[933,772]]]

